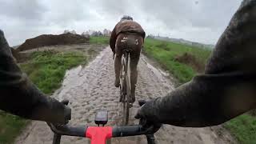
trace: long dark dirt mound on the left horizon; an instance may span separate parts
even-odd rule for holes
[[[27,39],[21,46],[18,47],[18,51],[31,50],[41,46],[53,46],[53,45],[68,45],[88,42],[89,38],[83,37],[79,34],[43,34],[35,38]]]

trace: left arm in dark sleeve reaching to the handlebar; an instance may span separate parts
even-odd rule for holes
[[[23,118],[65,122],[66,107],[42,94],[23,74],[0,30],[0,109]]]

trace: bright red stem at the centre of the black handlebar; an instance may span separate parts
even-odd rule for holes
[[[112,138],[112,127],[89,126],[86,138],[90,138],[91,144],[105,144],[107,138]]]

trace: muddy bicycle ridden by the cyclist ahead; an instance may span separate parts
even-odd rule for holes
[[[122,67],[120,71],[120,102],[122,102],[123,125],[128,125],[130,107],[130,49],[123,50]]]

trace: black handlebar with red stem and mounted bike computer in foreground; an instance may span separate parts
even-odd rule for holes
[[[91,144],[105,144],[106,139],[115,137],[128,137],[142,134],[146,135],[148,144],[155,144],[154,134],[147,134],[147,131],[141,125],[105,126],[107,121],[107,111],[101,110],[97,112],[94,119],[94,122],[98,126],[54,126],[54,124],[52,123],[47,124],[48,126],[50,126],[50,130],[54,132],[53,144],[60,144],[62,135],[90,138]]]

